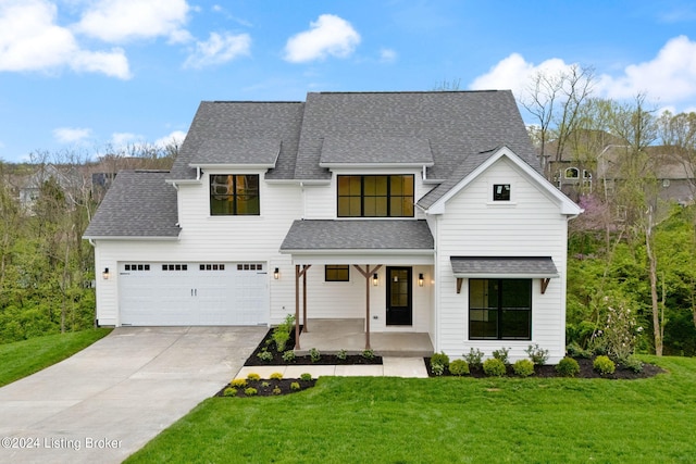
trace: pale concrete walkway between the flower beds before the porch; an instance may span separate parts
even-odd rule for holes
[[[339,377],[427,377],[423,358],[382,358],[382,365],[245,366],[235,378],[247,378],[251,373],[259,374],[261,378],[270,378],[273,373],[281,373],[285,378],[299,378],[304,373],[311,374],[312,378],[326,375]]]

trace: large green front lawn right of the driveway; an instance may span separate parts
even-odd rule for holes
[[[696,456],[696,359],[643,380],[325,377],[211,398],[128,462],[654,463]]]

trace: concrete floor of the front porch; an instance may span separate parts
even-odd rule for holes
[[[311,330],[301,334],[302,349],[307,354],[312,348],[321,353],[335,354],[346,350],[348,354],[365,349],[365,322],[356,319],[308,319]],[[433,354],[433,343],[427,333],[372,333],[372,350],[381,356],[424,358]]]

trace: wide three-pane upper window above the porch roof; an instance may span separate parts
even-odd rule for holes
[[[413,217],[413,178],[338,176],[338,217]]]

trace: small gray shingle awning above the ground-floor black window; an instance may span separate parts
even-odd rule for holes
[[[549,256],[451,256],[455,276],[558,277]]]

